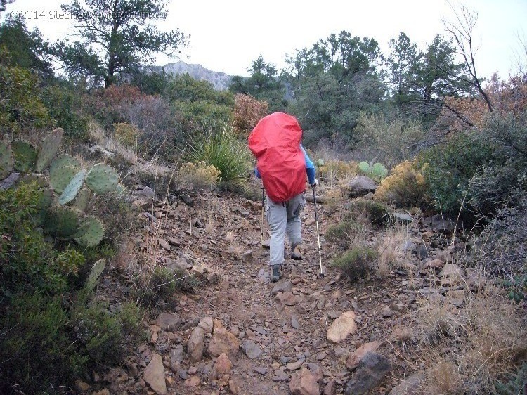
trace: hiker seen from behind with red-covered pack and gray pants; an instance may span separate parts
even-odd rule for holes
[[[301,145],[301,138],[297,119],[284,112],[263,117],[249,134],[249,149],[257,160],[254,173],[261,178],[266,195],[272,282],[281,276],[286,235],[291,243],[291,258],[302,259],[300,213],[306,204],[306,178],[312,188],[318,184],[315,166]]]

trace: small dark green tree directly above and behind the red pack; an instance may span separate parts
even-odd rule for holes
[[[266,63],[259,56],[247,71],[251,77],[233,77],[229,90],[250,95],[258,101],[266,101],[271,112],[284,111],[287,107],[285,86],[280,81],[275,65]]]

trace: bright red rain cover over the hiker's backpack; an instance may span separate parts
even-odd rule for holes
[[[306,190],[301,139],[297,119],[283,112],[263,117],[249,134],[249,149],[256,157],[263,188],[275,203],[286,202]]]

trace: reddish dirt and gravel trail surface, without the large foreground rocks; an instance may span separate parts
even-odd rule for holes
[[[191,272],[204,271],[200,278],[205,284],[195,293],[179,295],[178,305],[165,309],[181,318],[177,329],[163,330],[156,317],[148,322],[150,342],[141,345],[124,368],[106,377],[111,394],[154,394],[144,370],[155,354],[164,363],[167,393],[181,395],[290,394],[289,380],[301,366],[318,380],[320,393],[343,394],[351,377],[346,358],[373,341],[379,341],[379,353],[397,362],[375,394],[388,393],[406,373],[408,362],[398,358],[398,345],[387,340],[410,317],[414,291],[395,273],[377,285],[351,285],[330,266],[332,250],[323,238],[325,276],[320,276],[312,203],[301,214],[304,260],[287,259],[279,283],[268,282],[265,247],[260,263],[260,205],[212,194],[193,197],[189,204],[178,202],[151,212],[157,220],[145,221],[151,231],[143,235],[143,247],[155,235],[159,246],[164,245],[155,249],[160,264],[183,257],[193,265]],[[332,219],[322,205],[318,210],[323,235]],[[267,239],[266,224],[264,229]],[[327,330],[344,311],[354,311],[358,330],[334,344]],[[201,361],[189,355],[190,333],[204,318],[219,321],[242,344],[229,354],[233,367],[226,373],[217,373],[216,357],[207,352],[212,334],[204,336]]]

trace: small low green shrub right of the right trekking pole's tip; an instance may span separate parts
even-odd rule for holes
[[[332,266],[344,273],[352,283],[370,278],[377,252],[371,248],[353,247],[332,261]]]

